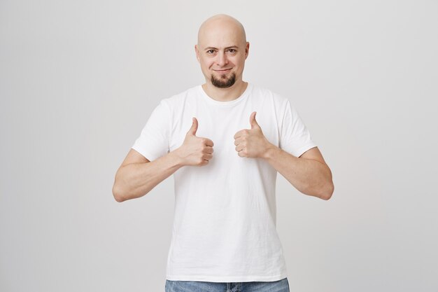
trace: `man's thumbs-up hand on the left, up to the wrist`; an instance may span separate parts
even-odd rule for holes
[[[192,118],[192,127],[185,134],[183,145],[176,149],[183,165],[203,166],[213,158],[213,141],[207,138],[196,137],[198,120]]]

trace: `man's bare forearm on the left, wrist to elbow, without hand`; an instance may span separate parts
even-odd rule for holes
[[[115,174],[113,186],[115,200],[123,202],[146,195],[158,183],[182,167],[180,161],[176,153],[170,152],[151,162],[132,163],[120,167]]]

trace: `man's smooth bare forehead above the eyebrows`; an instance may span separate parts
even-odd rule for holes
[[[233,22],[217,20],[199,29],[198,44],[201,48],[227,48],[245,43],[241,27]]]

